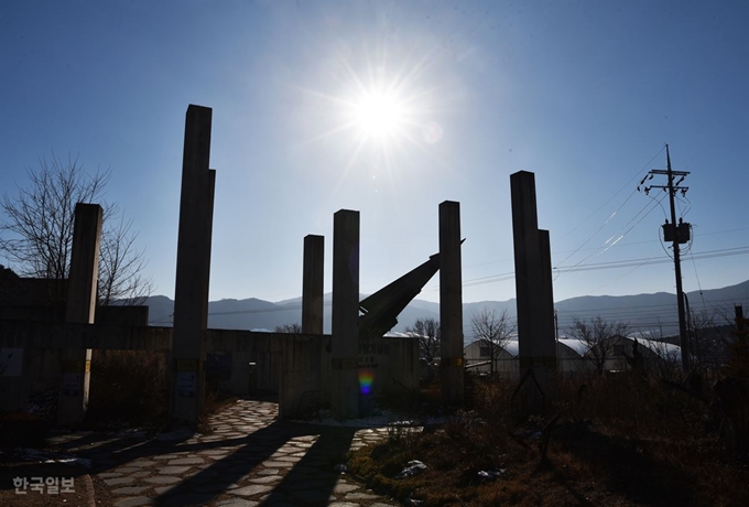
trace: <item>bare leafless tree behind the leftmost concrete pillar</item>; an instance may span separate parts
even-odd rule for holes
[[[0,254],[23,277],[66,279],[70,269],[73,226],[77,203],[96,203],[104,195],[111,171],[93,175],[78,159],[65,163],[52,154],[40,168],[26,170],[30,185],[3,195]],[[151,292],[143,276],[143,251],[135,248],[132,220],[122,218],[117,204],[102,203],[104,229],[99,258],[98,298],[101,304],[129,300],[141,304]],[[113,226],[110,226],[113,224]]]

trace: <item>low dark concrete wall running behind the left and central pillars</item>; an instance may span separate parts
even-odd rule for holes
[[[207,330],[204,336],[206,373],[221,390],[279,393],[283,417],[329,406],[330,335]],[[0,377],[0,408],[18,409],[29,393],[58,387],[63,348],[166,352],[172,339],[172,327],[0,320],[0,347],[23,350],[23,374]],[[358,362],[360,382],[371,379],[371,395],[419,388],[415,338],[362,342]]]

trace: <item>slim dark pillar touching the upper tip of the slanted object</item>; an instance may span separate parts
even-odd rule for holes
[[[463,274],[460,267],[460,203],[439,204],[439,355],[442,398],[463,403]]]

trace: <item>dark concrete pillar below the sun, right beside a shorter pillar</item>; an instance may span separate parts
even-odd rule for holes
[[[330,410],[338,420],[359,417],[359,212],[333,216],[333,343]]]

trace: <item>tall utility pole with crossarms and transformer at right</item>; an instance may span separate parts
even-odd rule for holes
[[[688,186],[679,186],[679,184],[684,181],[684,179],[690,174],[684,171],[672,171],[671,170],[671,155],[669,154],[669,144],[665,145],[665,159],[666,159],[666,170],[652,170],[648,173],[645,177],[642,179],[638,190],[645,182],[645,180],[652,180],[654,174],[665,175],[667,177],[666,185],[650,185],[644,187],[645,195],[651,191],[651,188],[662,188],[663,192],[669,192],[669,204],[671,205],[671,224],[669,220],[663,225],[664,240],[671,240],[673,242],[674,250],[674,270],[676,274],[676,304],[679,309],[679,337],[682,346],[682,369],[685,373],[690,371],[691,362],[691,344],[690,337],[686,333],[686,312],[684,309],[684,290],[682,289],[682,262],[681,252],[679,250],[679,245],[685,244],[690,240],[690,224],[682,222],[680,218],[679,225],[676,225],[676,207],[674,205],[674,196],[676,192],[681,192],[682,195],[686,194],[690,190]],[[679,181],[674,183],[674,177],[680,177]]]

